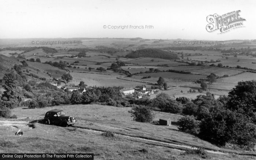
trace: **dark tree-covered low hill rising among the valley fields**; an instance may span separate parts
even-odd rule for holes
[[[177,54],[169,53],[160,49],[140,49],[127,54],[127,58],[139,58],[139,57],[151,57],[151,58],[162,58],[168,60],[179,59]]]

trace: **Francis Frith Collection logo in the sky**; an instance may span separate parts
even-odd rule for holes
[[[240,17],[240,10],[228,12],[223,15],[213,14],[208,15],[206,20],[209,24],[206,26],[206,30],[208,32],[218,31],[222,33],[226,33],[235,28],[245,27],[243,21],[244,18]]]

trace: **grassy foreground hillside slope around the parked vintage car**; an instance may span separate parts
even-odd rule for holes
[[[46,111],[53,108],[63,109],[66,114],[76,116],[78,122],[75,126],[59,127],[34,123],[33,128],[26,126],[28,121],[36,117],[44,117]],[[202,146],[203,148],[233,152],[218,148],[199,138],[180,132],[177,126],[159,126],[151,123],[132,121],[128,113],[131,108],[117,108],[100,105],[70,105],[54,106],[38,109],[15,108],[12,114],[18,119],[4,122],[0,119],[0,153],[94,153],[95,159],[202,159],[200,155],[191,155],[184,152],[185,146]],[[177,121],[181,115],[161,113],[154,111],[155,120],[160,117],[169,117]],[[22,120],[24,119],[24,120]],[[14,127],[15,126],[15,127]],[[22,137],[15,136],[16,130],[21,128]],[[93,130],[88,130],[93,129]],[[95,130],[108,130],[113,132],[113,140],[101,135]],[[130,138],[123,138],[122,134]],[[133,138],[131,138],[133,137]],[[137,138],[136,138],[137,137]],[[143,138],[154,141],[147,141]],[[160,143],[164,141],[173,145]],[[51,145],[49,145],[49,143]],[[181,145],[181,146],[180,146]],[[112,146],[112,147],[109,147]],[[67,150],[68,147],[68,150]],[[182,149],[183,148],[183,149]],[[146,152],[142,152],[144,151]],[[236,154],[207,153],[208,159],[253,159],[253,156]]]

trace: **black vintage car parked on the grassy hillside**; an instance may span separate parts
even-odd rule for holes
[[[59,125],[63,127],[67,127],[68,125],[72,125],[76,122],[74,117],[65,115],[63,110],[50,110],[46,112],[44,117],[44,123],[48,125]]]

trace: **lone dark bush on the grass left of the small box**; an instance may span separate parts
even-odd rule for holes
[[[137,122],[151,122],[154,118],[151,110],[145,106],[134,106],[128,112],[131,113],[133,120]]]

